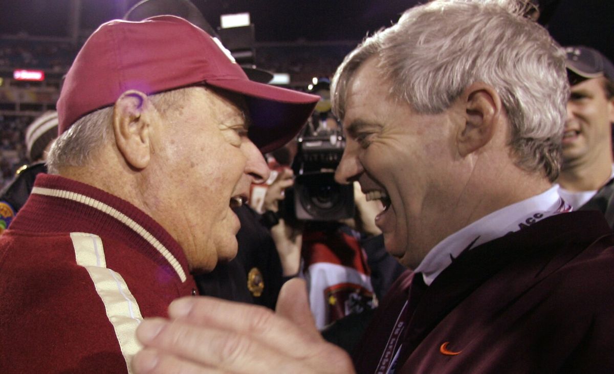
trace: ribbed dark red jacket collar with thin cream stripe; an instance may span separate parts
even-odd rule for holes
[[[66,211],[69,213],[60,214]],[[115,238],[151,255],[162,267],[176,273],[181,282],[187,279],[184,252],[160,224],[130,202],[91,185],[41,173],[20,214],[22,222],[29,222],[24,225],[14,220],[15,227],[39,232],[113,233]]]

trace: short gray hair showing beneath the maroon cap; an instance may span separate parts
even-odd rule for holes
[[[185,99],[189,88],[179,88],[150,95],[153,105],[162,115],[168,115],[176,108],[179,100]],[[113,132],[112,106],[103,107],[84,115],[58,137],[47,156],[50,174],[58,174],[67,166],[85,166],[95,157],[107,142],[115,140]]]

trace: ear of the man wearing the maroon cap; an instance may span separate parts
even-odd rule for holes
[[[150,120],[153,109],[147,95],[140,91],[128,90],[115,101],[113,111],[113,130],[115,144],[126,163],[136,169],[149,164]]]

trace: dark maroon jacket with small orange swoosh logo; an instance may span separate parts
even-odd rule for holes
[[[408,301],[396,373],[614,373],[612,246],[602,214],[572,212],[464,252],[429,287],[407,271],[354,351],[357,371],[376,372]]]

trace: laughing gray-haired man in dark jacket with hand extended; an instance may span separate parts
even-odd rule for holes
[[[565,53],[525,6],[413,7],[333,77],[348,139],[336,179],[382,201],[386,250],[413,269],[353,360],[322,340],[292,279],[275,313],[176,300],[139,325],[135,372],[614,372],[614,233],[553,184]]]

